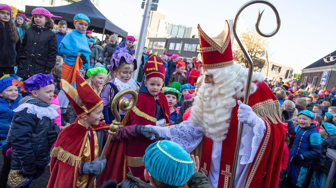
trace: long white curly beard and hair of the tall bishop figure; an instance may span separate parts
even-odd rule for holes
[[[238,64],[227,67],[208,69],[205,74],[213,75],[213,82],[202,83],[195,97],[189,121],[199,124],[205,136],[215,142],[226,138],[230,126],[232,108],[237,98],[244,97],[248,69]],[[253,81],[262,81],[261,73],[253,73]],[[257,89],[252,83],[250,94]]]

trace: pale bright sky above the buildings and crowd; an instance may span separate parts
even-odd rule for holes
[[[142,0],[100,0],[100,11],[113,23],[138,34],[143,9]],[[223,29],[225,19],[233,19],[238,9],[247,1],[223,0],[159,0],[158,12],[166,14],[166,20],[192,26],[197,24],[210,36],[216,36]],[[336,50],[336,1],[334,0],[272,0],[281,17],[279,32],[267,38],[270,61],[297,67],[295,72]],[[263,4],[254,4],[240,15],[244,28],[254,28],[258,8],[265,9],[260,28],[271,32],[276,19],[273,11]]]

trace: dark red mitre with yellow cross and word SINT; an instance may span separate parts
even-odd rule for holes
[[[146,61],[144,72],[146,80],[152,77],[160,77],[165,80],[165,67],[163,66],[162,61],[155,55],[152,55]]]

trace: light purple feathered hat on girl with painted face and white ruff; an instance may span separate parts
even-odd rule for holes
[[[127,46],[123,48],[119,48],[117,51],[115,51],[112,55],[111,59],[111,65],[108,65],[107,68],[110,71],[114,71],[116,67],[119,67],[119,65],[125,61],[126,63],[133,63],[134,64],[134,70],[137,68],[136,59],[133,59],[132,55],[128,54]]]

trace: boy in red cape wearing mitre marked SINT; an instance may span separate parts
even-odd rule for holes
[[[138,101],[129,113],[127,124],[162,126],[164,122],[170,122],[170,111],[166,96],[160,92],[165,79],[165,68],[160,58],[155,55],[148,58],[144,66],[144,74],[145,80],[141,83]],[[145,149],[152,143],[154,140],[143,136],[131,138],[127,142],[126,170],[129,167],[133,175],[143,181],[145,181],[143,175],[145,167],[142,157]]]

